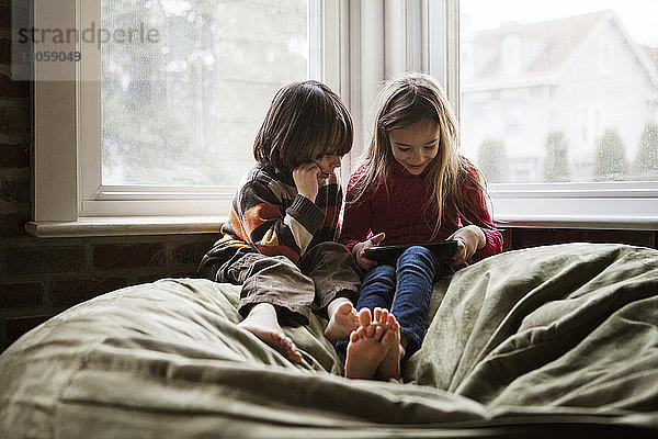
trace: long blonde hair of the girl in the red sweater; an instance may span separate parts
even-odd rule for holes
[[[428,165],[426,179],[431,195],[423,206],[436,217],[432,237],[439,233],[441,218],[447,210],[454,210],[467,224],[486,226],[485,219],[464,199],[463,191],[465,187],[472,187],[486,196],[484,177],[457,150],[454,111],[441,86],[428,75],[406,74],[383,85],[377,104],[374,134],[363,158],[366,171],[354,185],[356,196],[353,202],[359,202],[366,191],[376,190],[381,184],[388,193],[388,181],[396,162],[388,133],[417,122],[433,121],[441,131],[440,144],[436,157]]]

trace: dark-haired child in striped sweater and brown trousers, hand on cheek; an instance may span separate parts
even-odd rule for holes
[[[350,251],[333,241],[342,192],[333,170],[352,147],[352,120],[340,99],[317,81],[295,82],[274,98],[253,144],[258,164],[242,178],[224,233],[200,271],[241,284],[238,325],[293,362],[302,354],[281,325],[306,325],[311,311],[329,318],[336,341],[359,327],[352,305],[360,279]],[[382,350],[395,323],[363,331],[362,346]]]

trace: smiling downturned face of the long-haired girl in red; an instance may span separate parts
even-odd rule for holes
[[[388,132],[393,157],[405,169],[418,176],[439,153],[441,130],[434,121],[420,121]]]

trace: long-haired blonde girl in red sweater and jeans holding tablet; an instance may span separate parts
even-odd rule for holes
[[[387,379],[398,378],[400,361],[420,348],[433,282],[466,261],[500,252],[502,236],[491,222],[481,175],[457,151],[455,117],[441,87],[427,75],[408,74],[386,82],[379,100],[364,164],[348,184],[339,241],[366,271],[356,308],[370,308],[379,320],[387,307],[399,323],[399,342],[377,364],[379,358],[360,368]],[[441,239],[457,240],[450,266],[419,246],[395,267],[377,264],[363,251]],[[345,368],[361,342],[358,335],[350,339]]]

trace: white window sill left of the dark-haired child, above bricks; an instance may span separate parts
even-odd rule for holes
[[[25,230],[38,238],[175,235],[218,233],[226,216],[124,216],[75,222],[30,222]]]

